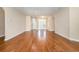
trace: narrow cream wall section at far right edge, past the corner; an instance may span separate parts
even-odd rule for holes
[[[70,39],[79,41],[79,7],[70,8]]]

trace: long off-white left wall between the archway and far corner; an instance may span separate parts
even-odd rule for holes
[[[26,16],[13,8],[5,7],[5,40],[25,31]]]

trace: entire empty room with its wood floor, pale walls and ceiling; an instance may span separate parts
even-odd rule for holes
[[[0,7],[0,52],[79,51],[79,7]]]

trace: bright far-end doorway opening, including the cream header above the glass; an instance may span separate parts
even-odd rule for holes
[[[32,30],[46,30],[47,18],[46,16],[32,17]]]

